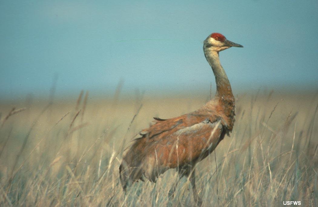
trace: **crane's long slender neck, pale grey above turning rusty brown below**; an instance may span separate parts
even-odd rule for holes
[[[218,52],[204,48],[204,55],[215,76],[215,82],[217,84],[216,96],[222,99],[234,99],[230,81],[221,66]]]

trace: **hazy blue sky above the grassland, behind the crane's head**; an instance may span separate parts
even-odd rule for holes
[[[146,94],[215,88],[203,40],[220,53],[234,92],[318,88],[318,2],[1,1],[0,95]]]

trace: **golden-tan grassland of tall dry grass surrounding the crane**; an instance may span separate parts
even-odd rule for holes
[[[0,206],[196,206],[174,169],[125,196],[123,148],[152,117],[194,111],[207,96],[91,99],[0,105]],[[52,101],[52,100],[51,100]],[[259,92],[236,96],[236,123],[196,169],[203,206],[318,206],[318,97]],[[13,108],[16,107],[16,108]]]

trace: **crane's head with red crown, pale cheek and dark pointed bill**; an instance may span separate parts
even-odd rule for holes
[[[204,40],[204,49],[220,52],[230,47],[243,46],[227,40],[225,36],[220,33],[212,33]]]

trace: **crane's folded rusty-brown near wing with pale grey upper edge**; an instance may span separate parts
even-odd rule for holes
[[[148,139],[145,148],[139,151],[143,152],[145,157],[142,159],[141,172],[144,172],[145,177],[150,181],[155,181],[156,177],[167,169],[204,159],[225,135],[221,118],[217,118],[214,122],[206,118],[202,122],[175,131],[177,128],[178,126],[162,132],[162,134],[169,132],[164,137],[159,134]]]

